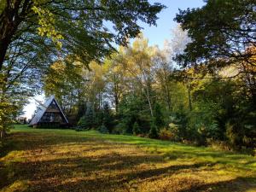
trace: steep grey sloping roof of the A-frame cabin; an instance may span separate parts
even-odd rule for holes
[[[63,118],[65,119],[66,123],[68,123],[68,120],[65,116],[65,114],[62,112],[61,107],[59,105],[59,103],[55,100],[55,96],[50,96],[49,99],[44,102],[43,106],[40,106],[40,108],[38,108],[38,112],[35,114],[35,116],[32,118],[31,122],[29,123],[29,125],[36,125],[38,124],[38,122],[40,121],[40,119],[42,119],[42,117],[44,116],[44,113],[46,112],[47,108],[49,108],[49,105],[55,102],[56,106],[58,107],[58,109],[60,110]]]

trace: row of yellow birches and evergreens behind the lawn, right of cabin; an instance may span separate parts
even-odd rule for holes
[[[44,77],[77,131],[133,134],[223,148],[255,146],[255,111],[240,63],[209,72],[179,67],[174,55],[191,40],[180,26],[164,49],[140,35],[102,64],[55,62]]]

